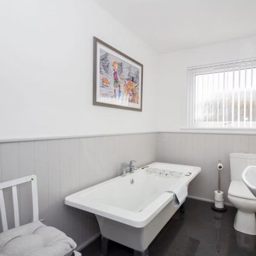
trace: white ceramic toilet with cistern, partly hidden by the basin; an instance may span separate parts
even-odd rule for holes
[[[256,154],[230,154],[231,182],[227,197],[238,209],[234,222],[235,229],[242,233],[256,235],[256,197],[241,178],[242,172],[249,165],[256,165]]]

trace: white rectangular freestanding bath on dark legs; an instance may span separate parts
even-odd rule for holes
[[[65,204],[96,215],[102,234],[102,253],[108,239],[134,249],[134,255],[148,255],[148,245],[179,207],[174,184],[189,185],[200,167],[151,163],[65,198]]]

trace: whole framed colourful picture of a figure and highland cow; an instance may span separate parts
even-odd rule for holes
[[[142,111],[143,65],[93,38],[93,105]]]

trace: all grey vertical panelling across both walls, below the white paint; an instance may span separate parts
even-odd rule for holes
[[[39,217],[63,230],[79,247],[99,234],[94,215],[64,205],[66,195],[121,174],[120,164],[137,160],[136,166],[161,161],[201,166],[189,186],[189,195],[213,200],[218,188],[218,159],[224,164],[221,189],[227,202],[230,183],[229,154],[256,153],[256,135],[153,133],[81,137],[0,143],[0,180],[35,173],[38,178]],[[4,192],[11,199],[11,191]],[[18,188],[21,222],[30,220],[30,189]],[[8,224],[14,227],[12,205],[7,204]]]

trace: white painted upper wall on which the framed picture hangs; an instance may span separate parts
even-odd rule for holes
[[[156,53],[91,0],[0,1],[0,139],[156,131]],[[144,65],[143,112],[92,105],[93,36]]]

